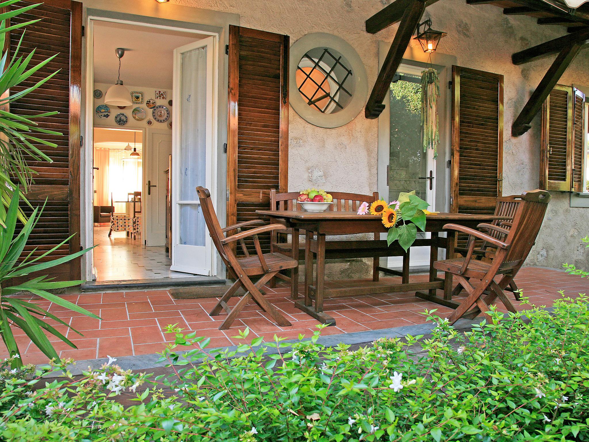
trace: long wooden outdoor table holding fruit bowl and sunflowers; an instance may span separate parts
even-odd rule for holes
[[[428,282],[406,282],[397,284],[371,283],[366,287],[353,288],[325,288],[325,237],[326,235],[352,235],[357,233],[388,232],[382,225],[382,217],[377,215],[356,215],[354,212],[295,212],[292,210],[256,210],[259,215],[270,218],[271,222],[280,222],[293,229],[292,257],[299,258],[300,230],[306,231],[305,242],[305,297],[303,301],[294,301],[302,311],[313,316],[323,324],[335,325],[335,319],[323,311],[323,298],[336,296],[356,296],[374,293],[408,292],[415,290],[415,295],[437,304],[455,308],[452,302],[452,275],[446,272],[444,279],[438,278],[434,269],[434,262],[438,260],[438,249],[446,250],[446,259],[454,258],[454,244],[456,232],[444,230],[448,223],[459,224],[475,229],[479,223],[489,223],[497,219],[507,219],[493,215],[469,215],[465,213],[438,213],[428,215],[425,231],[431,233],[431,238],[417,239],[414,246],[429,246],[430,266]],[[440,237],[440,232],[446,232],[446,238]],[[313,238],[313,237],[316,238]],[[370,240],[367,240],[369,242]],[[393,246],[393,245],[391,245]],[[316,258],[315,285],[313,278],[313,253]],[[349,251],[343,258],[358,258],[359,252]],[[298,298],[299,273],[292,269],[291,295]],[[436,296],[436,289],[444,290],[444,297]],[[313,305],[313,301],[315,304]]]

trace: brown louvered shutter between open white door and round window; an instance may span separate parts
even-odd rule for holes
[[[287,192],[288,60],[287,35],[229,27],[228,226],[259,218],[270,189]]]

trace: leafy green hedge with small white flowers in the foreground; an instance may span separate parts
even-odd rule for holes
[[[317,344],[317,331],[292,347],[276,337],[243,344],[241,356],[207,351],[209,339],[170,327],[176,344],[162,359],[177,373],[159,381],[173,397],[114,361],[35,391],[44,380],[4,369],[0,434],[15,442],[589,440],[586,296],[527,311],[529,321],[492,311],[492,324],[466,334],[433,312],[431,334],[356,351]],[[137,403],[117,403],[121,392]]]

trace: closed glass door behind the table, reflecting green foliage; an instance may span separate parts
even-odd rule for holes
[[[389,88],[387,106],[390,110],[390,143],[386,158],[386,183],[380,183],[381,197],[388,202],[400,192],[415,190],[417,196],[435,210],[436,161],[434,151],[423,151],[421,122],[421,72],[423,68],[401,65]],[[439,111],[444,108],[440,104]],[[441,146],[439,146],[441,149]],[[418,233],[418,238],[429,238],[429,233]],[[429,247],[412,247],[411,266],[429,265]],[[400,256],[388,258],[389,268],[402,265]]]

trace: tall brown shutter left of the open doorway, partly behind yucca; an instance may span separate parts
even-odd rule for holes
[[[35,2],[36,3],[36,2]],[[32,4],[19,1],[11,5],[17,9]],[[29,236],[24,249],[28,254],[37,248],[34,256],[58,245],[70,235],[75,235],[69,245],[62,246],[44,258],[51,260],[80,250],[80,88],[81,88],[81,54],[82,54],[82,4],[70,0],[44,0],[42,5],[11,19],[11,24],[41,18],[28,25],[19,54],[29,54],[37,48],[31,65],[59,53],[48,65],[37,71],[12,90],[17,93],[31,87],[47,75],[61,70],[55,77],[25,97],[11,103],[11,111],[16,115],[30,116],[49,111],[59,114],[36,118],[40,127],[61,132],[62,136],[35,134],[39,138],[50,140],[58,146],[55,148],[38,144],[53,162],[44,161],[29,164],[38,172],[34,176],[27,198],[32,206],[42,206],[47,199],[45,210]],[[21,38],[23,30],[16,29],[10,33],[11,55]],[[23,205],[25,213],[31,213]],[[80,279],[80,258],[64,263],[43,274],[51,273],[57,279]],[[30,275],[29,275],[30,276]]]

